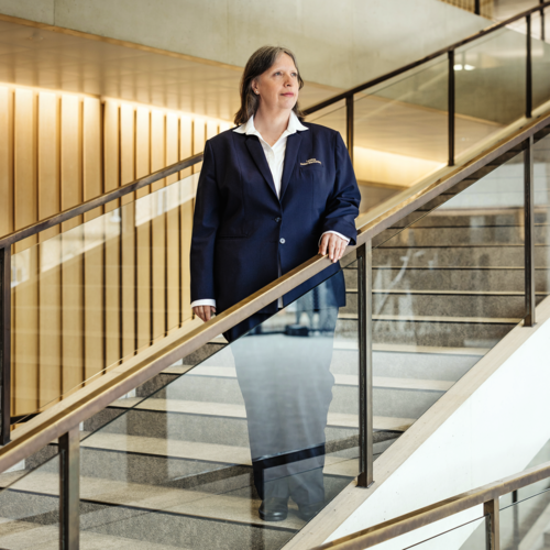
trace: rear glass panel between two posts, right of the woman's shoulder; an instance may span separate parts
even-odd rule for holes
[[[444,167],[448,143],[447,57],[356,94],[353,163],[363,210]]]

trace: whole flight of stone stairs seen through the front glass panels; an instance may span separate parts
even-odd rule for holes
[[[518,155],[515,150],[484,167],[373,243],[375,455],[521,321]],[[542,146],[539,155],[550,158]],[[550,294],[546,185],[543,179],[536,197],[539,301]],[[328,499],[359,468],[353,263],[344,275],[348,305],[340,311],[331,366]],[[279,314],[277,322],[294,318]],[[244,403],[224,341],[210,342],[185,363],[81,427],[81,548],[276,549],[304,526],[292,502],[285,521],[257,516]],[[51,444],[25,470],[0,475],[2,486],[19,479],[0,496],[2,515],[24,517],[16,529],[7,521],[2,530],[0,522],[7,548],[28,548],[37,537],[41,548],[57,548],[56,453]]]

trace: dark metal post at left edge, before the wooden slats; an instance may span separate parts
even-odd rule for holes
[[[10,442],[11,424],[11,246],[0,249],[0,444]]]

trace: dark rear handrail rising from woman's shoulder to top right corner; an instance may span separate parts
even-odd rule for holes
[[[541,2],[536,8],[530,8],[529,10],[525,10],[521,13],[518,13],[517,15],[513,15],[512,18],[506,19],[505,21],[494,23],[494,24],[487,26],[486,29],[482,29],[481,31],[468,36],[466,38],[463,38],[459,42],[455,42],[454,44],[451,44],[450,46],[442,47],[441,50],[438,50],[437,52],[433,52],[432,54],[429,54],[426,57],[422,57],[421,59],[417,59],[416,62],[409,63],[408,65],[404,65],[403,67],[399,67],[398,69],[386,73],[385,75],[373,78],[364,84],[360,84],[359,86],[355,86],[354,88],[350,88],[349,90],[337,94],[336,96],[332,96],[331,98],[324,99],[322,101],[319,101],[318,103],[312,105],[311,107],[302,109],[304,114],[306,114],[306,116],[312,114],[314,112],[320,111],[321,109],[324,109],[324,108],[330,107],[334,103],[338,103],[339,101],[342,101],[343,99],[348,99],[350,97],[353,97],[355,94],[360,94],[360,92],[366,90],[367,88],[372,88],[373,86],[382,84],[382,82],[389,80],[396,76],[403,75],[404,73],[407,73],[410,69],[419,67],[420,65],[424,65],[424,64],[430,62],[431,59],[440,57],[441,55],[449,54],[449,52],[454,52],[460,46],[463,46],[465,44],[469,44],[470,42],[474,42],[479,38],[482,38],[483,36],[486,36],[487,34],[494,33],[495,31],[498,31],[499,29],[503,29],[504,26],[507,26],[510,23],[514,23],[515,21],[519,21],[520,19],[526,18],[527,15],[531,15],[532,13],[535,13],[537,11],[540,11],[541,14],[543,15],[544,8],[548,8],[549,6],[550,6],[550,1]],[[543,21],[543,16],[542,16],[542,21]],[[541,29],[543,29],[543,26]]]

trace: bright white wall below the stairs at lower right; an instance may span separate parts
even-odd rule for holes
[[[537,312],[541,322],[534,334],[329,540],[513,475],[529,464],[550,439],[550,299],[544,300]],[[480,516],[481,507],[418,529],[376,549],[408,548]],[[475,527],[458,530],[446,536],[444,540],[436,538],[418,550],[458,549]]]

